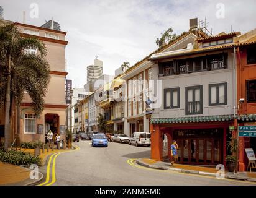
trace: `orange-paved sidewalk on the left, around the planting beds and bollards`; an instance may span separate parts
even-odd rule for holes
[[[34,155],[34,149],[21,149],[24,152],[31,153]],[[64,152],[68,149],[49,149],[49,152],[42,153],[41,150],[41,155],[40,158],[42,159],[42,165],[45,165],[47,161],[47,157],[53,153],[58,153],[58,152]],[[11,185],[11,186],[16,186],[16,185],[21,185],[21,186],[27,186],[32,183],[38,183],[42,178],[43,174],[39,173],[39,179],[35,181],[35,179],[30,179],[30,170],[28,168],[23,168],[21,166],[16,166],[16,165],[11,165],[9,163],[2,163],[0,161],[0,185]]]

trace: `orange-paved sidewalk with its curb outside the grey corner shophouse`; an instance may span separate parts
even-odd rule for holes
[[[188,174],[199,174],[204,176],[211,176],[216,178],[216,173],[218,170],[215,168],[208,168],[203,166],[191,166],[191,165],[180,165],[163,162],[163,161],[155,161],[149,158],[139,158],[136,160],[137,164],[141,166],[145,166],[148,168],[157,168],[160,170],[171,170],[177,171],[179,173],[188,173]],[[230,172],[225,172],[226,179],[239,179],[243,181],[253,181],[256,183],[256,173],[249,172],[239,172],[239,174],[234,174]]]

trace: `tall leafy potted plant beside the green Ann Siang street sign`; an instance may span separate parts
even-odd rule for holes
[[[239,149],[239,142],[237,137],[231,137],[231,141],[227,142],[227,147],[231,151],[231,155],[227,155],[226,157],[227,170],[229,170],[229,172],[234,172],[235,166],[237,164],[236,152]]]

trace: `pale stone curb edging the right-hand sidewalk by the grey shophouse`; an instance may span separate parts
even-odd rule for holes
[[[176,171],[178,173],[187,173],[187,174],[198,174],[202,176],[209,176],[209,177],[214,177],[216,178],[216,173],[209,173],[209,172],[204,172],[204,171],[194,171],[194,170],[186,170],[186,169],[181,169],[181,168],[171,168],[171,167],[165,167],[165,166],[156,166],[156,165],[149,165],[140,159],[136,160],[136,163],[141,166],[145,166],[147,168],[155,168],[155,169],[160,169],[160,170],[171,170],[171,171]],[[236,180],[242,180],[242,181],[250,181],[250,182],[255,182],[256,183],[256,178],[245,178],[245,177],[240,177],[240,176],[234,176],[234,175],[227,175],[225,174],[226,179],[236,179]]]

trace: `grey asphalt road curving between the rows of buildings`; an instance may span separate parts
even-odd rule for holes
[[[74,143],[79,149],[52,158],[55,173],[50,185],[252,185],[243,181],[153,170],[127,163],[130,158],[149,158],[149,147],[109,142],[109,147],[91,147],[91,141]],[[47,173],[47,166],[41,170]]]

